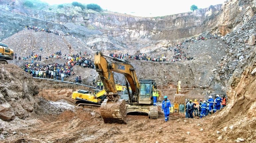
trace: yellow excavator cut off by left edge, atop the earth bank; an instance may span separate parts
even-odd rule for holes
[[[6,44],[0,43],[0,63],[8,64],[7,60],[13,60],[13,50]]]

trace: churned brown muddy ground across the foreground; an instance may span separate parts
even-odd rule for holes
[[[97,110],[80,107],[59,115],[33,118],[26,119],[28,125],[16,129],[17,134],[5,138],[3,143],[182,143],[196,142],[201,137],[204,137],[203,142],[211,143],[212,139],[208,136],[216,132],[210,128],[208,119],[185,119],[183,114],[177,113],[170,115],[169,122],[164,122],[164,117],[153,120],[145,115],[127,115],[126,125],[105,124]],[[35,118],[36,122],[31,123]],[[201,128],[204,131],[200,131]]]

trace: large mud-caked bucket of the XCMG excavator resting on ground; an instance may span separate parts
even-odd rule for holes
[[[108,101],[105,99],[100,106],[100,115],[104,123],[126,124],[126,102],[124,99]]]

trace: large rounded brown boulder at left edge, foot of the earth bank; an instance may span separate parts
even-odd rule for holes
[[[7,102],[0,104],[0,119],[4,121],[12,121],[15,118],[15,114],[11,105]]]

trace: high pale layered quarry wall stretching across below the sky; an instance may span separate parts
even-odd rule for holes
[[[167,44],[161,43],[163,47],[168,47],[170,40],[191,37],[204,31],[221,36],[232,32],[252,18],[255,3],[255,0],[228,0],[223,5],[194,12],[143,18],[108,11],[99,14],[71,4],[63,9],[53,6],[51,11],[49,8],[31,10],[22,6],[23,0],[16,0],[14,5],[5,0],[0,9],[0,18],[3,19],[0,40],[24,29],[26,25],[32,25],[72,33],[94,50],[154,48],[156,45],[152,43],[161,40],[166,40]],[[9,26],[12,28],[6,30]]]

